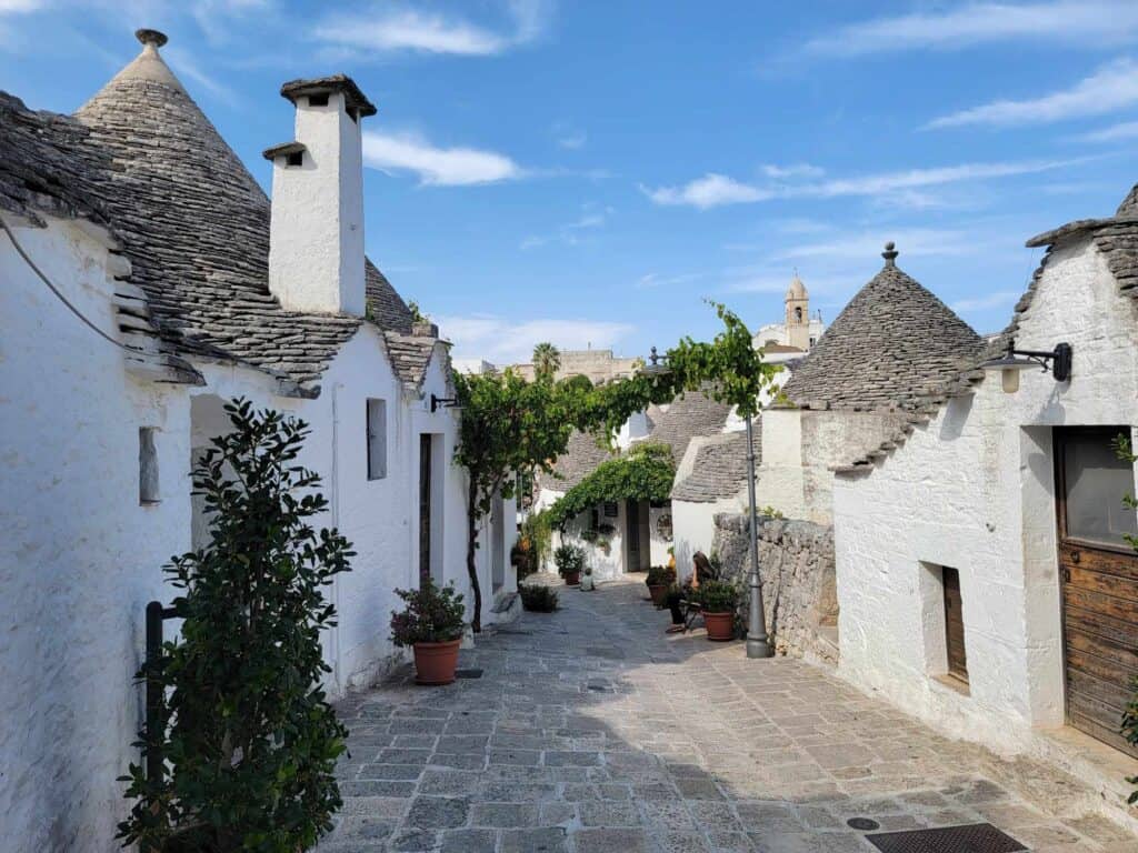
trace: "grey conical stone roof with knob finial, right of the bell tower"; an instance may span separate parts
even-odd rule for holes
[[[892,243],[884,257],[783,387],[793,404],[920,409],[983,353],[967,323],[897,267]]]

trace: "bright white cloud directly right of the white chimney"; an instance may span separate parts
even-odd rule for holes
[[[464,187],[521,177],[512,159],[477,148],[438,148],[411,134],[365,131],[363,162],[378,169],[413,172],[424,184]]]

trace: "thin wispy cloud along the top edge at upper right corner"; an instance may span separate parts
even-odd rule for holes
[[[1132,0],[972,2],[943,13],[865,20],[820,35],[805,51],[853,57],[904,50],[957,50],[1013,40],[1122,43],[1138,35]]]

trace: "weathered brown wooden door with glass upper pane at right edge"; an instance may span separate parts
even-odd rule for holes
[[[1133,466],[1111,441],[1129,426],[1058,430],[1059,572],[1067,722],[1138,756],[1119,734],[1138,677],[1138,555],[1125,540]]]

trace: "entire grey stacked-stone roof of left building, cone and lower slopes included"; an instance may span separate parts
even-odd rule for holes
[[[286,310],[269,292],[267,197],[158,56],[164,40],[139,38],[142,53],[74,117],[3,96],[0,204],[109,225],[131,263],[127,281],[182,355],[250,365],[313,396],[314,380],[371,322],[402,381],[421,381],[437,340],[412,333],[411,312],[371,262],[366,320]]]

